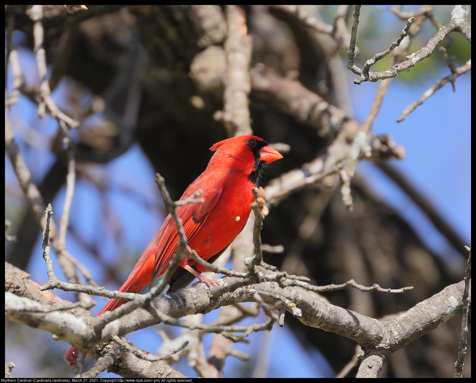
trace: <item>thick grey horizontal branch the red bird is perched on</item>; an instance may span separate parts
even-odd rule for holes
[[[110,341],[111,336],[114,334],[123,336],[131,331],[162,321],[173,325],[183,325],[182,321],[175,319],[176,316],[197,312],[210,312],[215,308],[215,304],[212,302],[218,296],[222,304],[232,304],[255,301],[256,297],[254,294],[258,292],[263,301],[268,304],[276,304],[282,300],[280,297],[283,297],[298,305],[301,310],[301,315],[298,319],[306,325],[332,331],[353,339],[367,350],[366,353],[369,353],[370,350],[376,352],[378,350],[385,350],[385,355],[388,356],[390,353],[413,342],[421,335],[433,330],[440,323],[444,323],[458,315],[463,311],[464,307],[463,293],[465,282],[450,285],[443,291],[418,303],[417,306],[407,312],[384,322],[379,322],[357,312],[351,312],[330,303],[319,301],[297,287],[279,288],[276,283],[261,282],[248,288],[243,288],[238,287],[240,284],[241,281],[238,279],[229,278],[227,287],[221,286],[208,289],[202,284],[198,284],[195,287],[170,294],[168,297],[161,295],[152,302],[156,312],[150,313],[145,310],[139,310],[135,316],[119,318],[115,323],[109,323],[104,327],[99,332],[99,337],[96,337],[95,334],[97,333],[93,330],[91,324],[83,323],[82,325],[65,327],[64,321],[67,318],[68,321],[74,319],[75,322],[82,322],[79,318],[69,313],[25,311],[25,308],[31,308],[32,306],[40,307],[40,303],[33,302],[27,298],[17,297],[10,292],[5,293],[5,313],[8,320],[40,327],[56,333],[61,339],[66,339],[74,344],[79,345],[84,341],[89,344],[97,344]],[[233,286],[232,289],[228,289],[230,285]],[[181,304],[178,305],[176,301],[181,302]],[[193,304],[188,304],[188,302],[192,301]],[[289,307],[287,307],[287,311],[291,311]],[[63,326],[60,326],[60,323],[63,323]],[[269,322],[255,325],[253,330],[265,329],[268,325]],[[65,331],[65,328],[67,331]],[[250,331],[247,326],[191,325],[189,328],[219,333],[223,331],[244,331],[248,333]],[[389,336],[389,333],[393,335]],[[231,333],[228,333],[228,335],[231,336]],[[233,339],[239,340],[239,338],[241,336]]]

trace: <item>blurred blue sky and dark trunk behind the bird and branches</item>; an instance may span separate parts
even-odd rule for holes
[[[100,286],[117,289],[165,217],[155,172],[165,177],[172,198],[178,199],[205,169],[211,157],[208,148],[227,138],[215,114],[223,109],[225,11],[219,6],[117,5],[88,6],[89,10],[69,14],[60,6],[45,7],[50,7],[44,8],[43,27],[52,97],[80,122],[71,132],[77,179],[66,246]],[[330,25],[338,11],[330,5],[301,7]],[[434,18],[444,25],[452,9],[437,6]],[[28,85],[39,79],[27,10],[28,6],[8,6],[5,20],[6,42],[7,28],[12,26],[12,49],[18,50]],[[279,7],[253,5],[242,10],[252,36],[250,68],[264,65],[278,76],[299,81],[349,118],[365,120],[379,82],[353,83],[357,76],[345,68],[348,46],[306,27]],[[352,11],[350,6],[344,13],[347,30]],[[360,13],[356,64],[362,68],[397,39],[405,21],[387,6],[363,6]],[[424,21],[408,54],[425,46],[436,31],[429,19]],[[470,44],[459,33],[440,45],[455,56],[456,67],[471,57]],[[390,57],[371,70],[388,69]],[[375,318],[405,311],[463,279],[467,257],[461,244],[470,245],[471,238],[470,74],[456,79],[456,92],[446,84],[407,119],[396,122],[407,105],[449,74],[438,50],[400,73],[371,131],[390,133],[405,148],[406,158],[389,161],[391,169],[434,207],[452,228],[454,240],[449,242],[448,232],[437,229],[408,191],[395,183],[395,175],[374,162],[360,161],[351,182],[353,212],[343,205],[338,189],[326,200],[317,186],[294,192],[270,209],[262,240],[283,245],[284,252],[265,253],[265,262],[306,275],[318,285],[353,278],[364,285],[415,287],[403,294],[351,289],[323,294],[333,304]],[[6,84],[11,91],[10,67]],[[297,121],[253,87],[249,100],[253,134],[290,146],[284,159],[268,168],[263,186],[312,161],[329,145],[331,137],[317,134],[315,127]],[[37,109],[20,94],[8,119],[33,180],[45,202],[52,204],[58,222],[65,195],[65,152],[58,123],[48,114],[40,119]],[[7,156],[5,217],[12,223],[9,233],[17,237],[17,242],[5,244],[6,260],[45,283],[40,229]],[[57,262],[54,266],[66,280]],[[73,293],[54,292],[75,300]],[[97,306],[91,312],[97,314],[107,300],[94,300]],[[217,315],[211,312],[204,322]],[[379,377],[452,377],[460,327],[461,318],[453,318],[392,354]],[[161,343],[158,329],[169,337],[180,333],[159,325],[126,338],[156,353]],[[206,350],[210,339],[211,335],[204,337]],[[248,344],[236,344],[251,362],[228,357],[223,376],[333,377],[350,361],[355,346],[347,338],[306,327],[287,313],[284,328],[275,326],[269,333],[250,335]],[[54,342],[50,333],[6,323],[6,362],[16,364],[15,377],[72,376],[63,361],[68,349],[69,344]],[[470,350],[468,344],[465,377],[471,373]],[[93,362],[87,358],[85,368]],[[196,376],[185,359],[173,367]],[[355,373],[353,369],[347,376]],[[117,375],[104,372],[98,377],[113,376]]]

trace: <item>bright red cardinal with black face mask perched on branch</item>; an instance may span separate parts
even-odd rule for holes
[[[210,150],[215,153],[207,169],[180,198],[184,200],[201,188],[203,193],[199,198],[205,201],[178,206],[176,211],[182,219],[190,248],[211,263],[227,249],[248,221],[250,205],[254,201],[252,189],[258,184],[263,166],[283,156],[256,136],[228,138],[217,142]],[[119,291],[138,293],[155,281],[167,271],[177,247],[177,227],[169,214]],[[208,270],[195,261],[186,258],[179,265],[181,267],[171,278],[169,292],[187,286],[195,277],[208,286],[218,286],[217,282],[200,274]],[[99,315],[123,303],[125,301],[111,299]],[[74,367],[78,351],[71,347],[64,359],[69,367]]]

